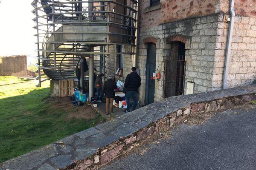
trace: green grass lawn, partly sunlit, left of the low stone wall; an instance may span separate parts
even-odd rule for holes
[[[0,76],[0,84],[20,82]],[[36,81],[0,86],[0,162],[28,153],[73,133],[105,121],[99,113],[93,119],[68,116],[79,107],[52,107],[49,81],[35,87]],[[70,101],[71,103],[71,101]]]

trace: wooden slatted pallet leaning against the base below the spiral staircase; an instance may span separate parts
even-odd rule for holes
[[[74,80],[59,80],[59,97],[73,96]]]

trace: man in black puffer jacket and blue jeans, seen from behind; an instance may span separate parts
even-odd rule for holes
[[[136,68],[133,67],[131,68],[131,73],[127,75],[125,79],[125,89],[126,89],[126,105],[127,108],[124,112],[129,112],[130,111],[130,97],[131,95],[133,96],[133,108],[132,110],[134,111],[137,105],[137,92],[140,87],[140,76],[136,72]]]

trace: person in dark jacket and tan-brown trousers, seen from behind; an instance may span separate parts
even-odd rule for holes
[[[113,100],[115,97],[115,90],[117,86],[116,83],[113,82],[113,76],[108,76],[108,80],[104,82],[103,85],[103,93],[105,93],[106,97],[106,114],[109,115],[113,113]],[[108,113],[108,105],[110,103],[110,113]]]

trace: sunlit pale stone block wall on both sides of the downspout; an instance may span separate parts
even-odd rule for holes
[[[212,90],[222,88],[227,43],[227,21],[220,22],[218,26]],[[236,16],[227,82],[228,88],[252,84],[253,80],[256,79],[255,72],[256,18]]]

